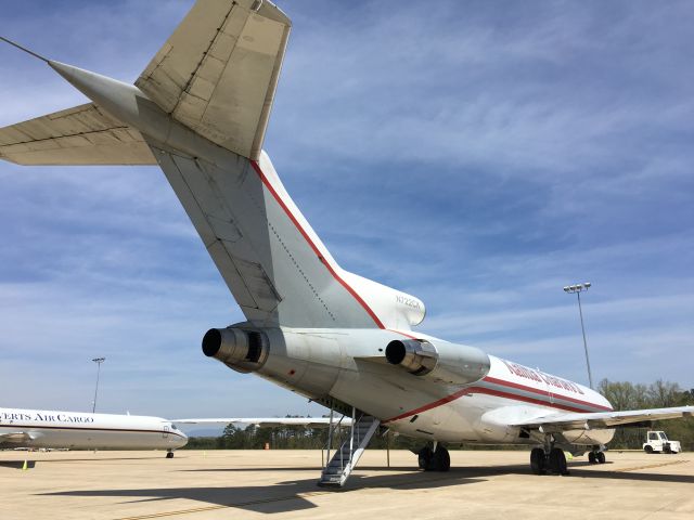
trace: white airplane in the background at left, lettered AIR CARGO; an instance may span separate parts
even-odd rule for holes
[[[140,415],[0,408],[0,447],[174,450],[188,437],[170,420]]]

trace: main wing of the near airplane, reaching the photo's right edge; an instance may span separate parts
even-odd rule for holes
[[[551,430],[592,430],[615,428],[619,426],[646,422],[651,420],[677,419],[692,417],[694,406],[677,406],[672,408],[629,410],[625,412],[596,412],[589,414],[558,413],[536,417],[511,426],[530,429]]]

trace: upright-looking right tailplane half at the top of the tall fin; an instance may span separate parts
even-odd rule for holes
[[[198,0],[136,86],[178,121],[257,160],[291,27],[268,0]]]

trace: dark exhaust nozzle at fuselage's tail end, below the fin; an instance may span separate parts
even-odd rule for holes
[[[242,328],[210,328],[203,338],[203,353],[215,358],[229,368],[249,373],[260,368],[270,352],[264,333]]]

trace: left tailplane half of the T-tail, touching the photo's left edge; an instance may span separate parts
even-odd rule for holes
[[[93,103],[0,129],[0,159],[17,165],[156,165],[140,132]]]

